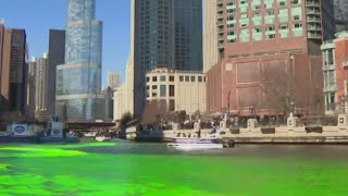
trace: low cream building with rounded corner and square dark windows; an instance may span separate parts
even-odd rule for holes
[[[147,101],[165,101],[167,111],[206,113],[206,75],[194,71],[156,69],[146,75]]]

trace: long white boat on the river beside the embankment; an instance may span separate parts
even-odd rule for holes
[[[181,149],[181,150],[224,148],[223,144],[214,144],[214,143],[169,143],[167,147]]]

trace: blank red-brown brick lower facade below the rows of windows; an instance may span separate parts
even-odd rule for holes
[[[273,54],[223,60],[208,73],[208,112],[223,108],[249,115],[284,111],[294,101],[302,112],[323,111],[322,58],[307,54]],[[273,110],[273,111],[272,111]]]

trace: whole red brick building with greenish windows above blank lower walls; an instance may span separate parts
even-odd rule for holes
[[[208,112],[271,115],[295,103],[321,113],[320,1],[217,0],[216,8],[220,62],[207,73]]]

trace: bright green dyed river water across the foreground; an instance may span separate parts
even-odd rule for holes
[[[348,193],[346,154],[337,157],[331,154],[345,152],[345,147],[307,150],[315,150],[319,154],[315,156],[303,155],[307,147],[290,150],[279,147],[281,150],[269,152],[276,147],[245,147],[246,150],[241,146],[229,151],[197,154],[159,150],[165,146],[138,144],[3,146],[0,147],[0,195]]]

